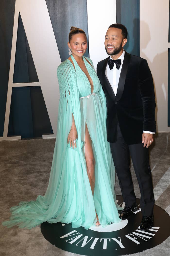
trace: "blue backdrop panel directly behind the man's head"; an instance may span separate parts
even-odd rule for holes
[[[140,56],[139,0],[116,0],[116,22],[123,24],[128,31],[124,49]]]

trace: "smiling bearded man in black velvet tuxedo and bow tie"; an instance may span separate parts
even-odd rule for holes
[[[127,219],[137,209],[130,153],[141,193],[140,229],[145,231],[153,224],[154,195],[148,147],[156,132],[155,94],[147,61],[128,54],[123,49],[126,42],[126,27],[112,24],[104,41],[110,57],[98,63],[97,75],[106,95],[107,139],[125,201],[120,218]]]

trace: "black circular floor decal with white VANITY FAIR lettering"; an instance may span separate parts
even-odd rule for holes
[[[118,204],[124,207],[122,196],[116,196]],[[147,231],[139,229],[142,219],[140,200],[137,198],[137,211],[128,220],[105,228],[72,228],[71,224],[61,222],[41,224],[45,239],[54,246],[68,252],[89,256],[126,255],[155,247],[170,235],[170,216],[154,205],[153,227]]]

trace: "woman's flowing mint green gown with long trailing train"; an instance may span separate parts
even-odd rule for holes
[[[115,169],[107,142],[106,99],[101,84],[89,58],[83,57],[93,81],[94,94],[85,73],[71,56],[57,69],[60,100],[56,144],[45,196],[35,201],[20,202],[10,208],[10,220],[2,224],[18,225],[31,229],[42,222],[72,223],[72,227],[88,229],[96,223],[96,212],[101,225],[120,222],[114,193]],[[91,65],[88,63],[88,61]],[[90,95],[90,96],[88,96]],[[88,97],[85,97],[88,96]],[[84,97],[84,98],[82,98]],[[80,99],[82,98],[82,99]],[[78,134],[79,152],[67,147],[67,137],[72,125],[72,114]],[[85,124],[92,140],[95,157],[95,191],[91,192],[85,162]]]

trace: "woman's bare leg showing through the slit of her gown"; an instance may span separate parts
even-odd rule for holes
[[[87,167],[87,175],[91,187],[92,194],[94,195],[95,188],[95,158],[93,155],[92,142],[90,138],[90,134],[88,132],[87,124],[85,128],[85,159],[86,159],[86,167]],[[96,218],[98,219],[98,215],[96,213]],[[97,221],[96,225],[99,226],[100,222]]]

